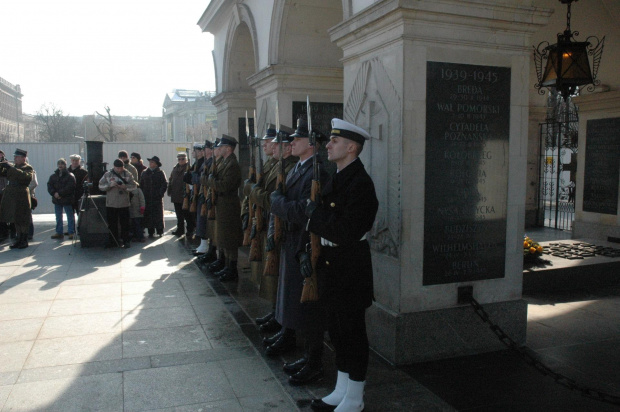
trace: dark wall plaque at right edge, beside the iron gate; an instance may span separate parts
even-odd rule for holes
[[[585,212],[618,214],[620,117],[588,120],[583,179]]]

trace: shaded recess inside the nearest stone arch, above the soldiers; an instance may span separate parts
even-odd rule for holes
[[[342,49],[328,30],[342,22],[343,3],[333,0],[275,0],[269,33],[269,63],[342,67]]]

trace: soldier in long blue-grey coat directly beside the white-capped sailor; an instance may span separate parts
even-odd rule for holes
[[[307,126],[300,124],[291,148],[292,154],[299,157],[299,162],[287,174],[286,192],[283,193],[283,188],[278,187],[271,194],[271,213],[282,219],[284,228],[275,314],[275,319],[282,325],[283,331],[281,336],[267,347],[265,353],[279,355],[294,349],[294,331],[300,331],[305,340],[305,356],[285,365],[285,370],[291,374],[289,383],[302,385],[323,377],[325,330],[325,314],[321,302],[300,302],[304,281],[300,271],[300,259],[307,258],[306,245],[310,241],[310,235],[306,231],[308,218],[305,207],[312,187],[314,160]],[[327,176],[322,168],[320,173],[318,179],[325,181]]]

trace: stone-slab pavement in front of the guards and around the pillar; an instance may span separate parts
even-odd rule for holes
[[[269,311],[240,256],[222,284],[170,235],[128,250],[50,239],[35,216],[31,247],[0,245],[0,411],[308,411],[325,379],[290,386],[254,317]],[[620,394],[620,288],[529,302],[528,345],[549,366]],[[615,366],[614,366],[615,365]],[[366,411],[617,410],[539,375],[508,351],[395,368],[371,354]]]

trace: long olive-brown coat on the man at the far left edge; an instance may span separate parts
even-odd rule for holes
[[[28,163],[11,166],[6,169],[7,186],[2,192],[0,205],[0,222],[30,224],[32,209],[30,208],[30,190],[34,169]]]

